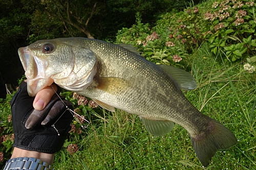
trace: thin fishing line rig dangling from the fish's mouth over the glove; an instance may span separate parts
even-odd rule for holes
[[[58,98],[60,99],[60,101],[66,106],[65,112],[66,112],[67,110],[69,110],[70,113],[73,115],[73,117],[75,117],[76,121],[81,125],[81,128],[82,128],[82,129],[86,129],[86,128],[91,124],[91,122],[88,121],[86,118],[80,116],[79,114],[77,114],[77,113],[74,112],[73,110],[71,110],[71,109],[62,101],[62,99],[60,98],[59,94],[54,90],[53,86],[51,85],[50,87],[51,87],[51,88],[53,89],[53,91],[57,94],[57,96],[58,96]],[[63,112],[63,113],[61,114],[61,116],[62,116],[65,112]],[[79,117],[82,118],[84,121],[86,121],[86,122],[87,122],[87,125],[83,126],[82,123],[80,122],[80,120],[79,120],[75,115],[79,116]],[[59,116],[59,118],[56,120],[56,122],[52,125],[52,127],[56,130],[56,132],[58,133],[58,135],[59,135],[59,132],[58,132],[58,130],[56,129],[55,124],[58,122],[58,120],[60,119],[61,116]]]

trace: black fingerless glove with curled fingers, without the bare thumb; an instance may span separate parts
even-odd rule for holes
[[[34,99],[28,95],[27,83],[20,83],[18,91],[11,100],[13,147],[53,154],[61,149],[71,129],[73,115],[57,94],[52,96],[49,104],[41,111],[33,108]],[[63,101],[73,110],[71,102]],[[52,127],[53,124],[58,132]]]

